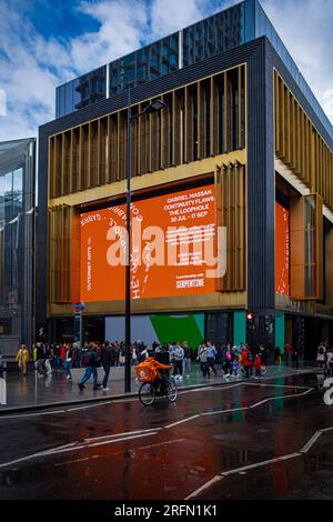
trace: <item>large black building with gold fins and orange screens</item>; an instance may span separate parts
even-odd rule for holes
[[[333,341],[333,129],[260,3],[97,71],[58,88],[58,118],[40,128],[39,328],[71,338],[84,301],[85,337],[123,331],[124,270],[109,249],[130,88],[133,215],[167,234],[189,213],[196,230],[226,230],[223,277],[193,252],[178,268],[132,267],[133,340],[289,341],[305,357]],[[158,99],[165,109],[144,114]]]

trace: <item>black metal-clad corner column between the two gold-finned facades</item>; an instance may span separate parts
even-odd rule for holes
[[[248,73],[248,303],[275,307],[275,172],[273,68],[266,39],[249,60]]]

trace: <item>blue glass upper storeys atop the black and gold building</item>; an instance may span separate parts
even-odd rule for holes
[[[245,0],[57,89],[56,118],[266,36],[333,138],[332,124],[258,0]],[[109,86],[107,86],[109,68]]]

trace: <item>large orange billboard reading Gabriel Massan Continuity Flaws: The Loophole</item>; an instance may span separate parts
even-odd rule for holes
[[[215,291],[214,184],[133,202],[131,218],[132,299]],[[125,204],[81,214],[81,301],[124,299],[125,245]]]

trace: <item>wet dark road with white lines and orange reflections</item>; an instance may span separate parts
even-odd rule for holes
[[[333,406],[317,385],[303,374],[154,408],[0,416],[0,499],[333,498]]]

